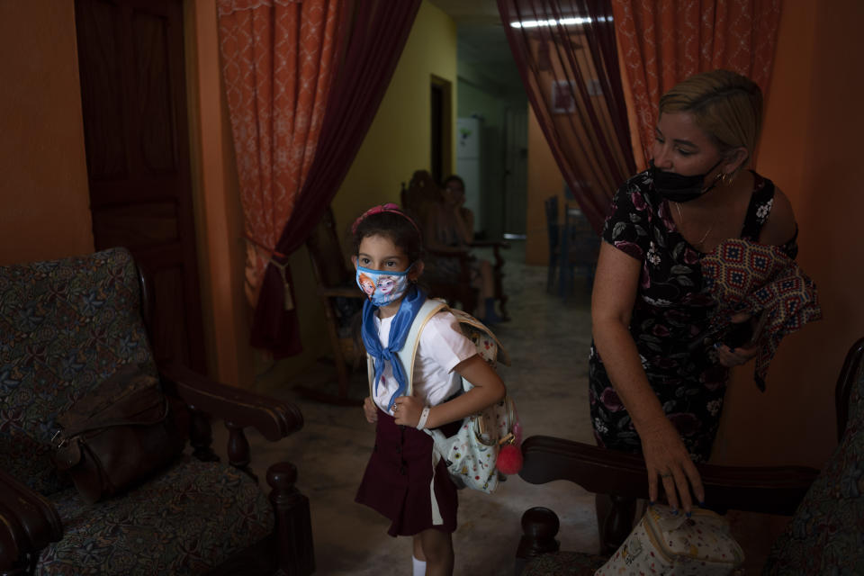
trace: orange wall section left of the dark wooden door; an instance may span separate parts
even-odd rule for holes
[[[0,2],[0,264],[93,251],[74,5]]]

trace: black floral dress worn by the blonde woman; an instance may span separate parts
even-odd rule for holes
[[[759,238],[774,203],[774,184],[753,175],[755,186],[741,232],[741,238],[749,240]],[[729,376],[710,342],[698,342],[716,304],[702,288],[699,263],[704,254],[680,234],[669,202],[654,190],[647,172],[633,176],[617,191],[602,235],[642,262],[630,333],[663,411],[693,460],[704,462],[714,444]],[[783,249],[795,257],[795,238]],[[593,342],[589,381],[591,420],[599,446],[641,452],[633,421]]]

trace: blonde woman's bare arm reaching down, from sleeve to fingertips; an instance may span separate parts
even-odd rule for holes
[[[603,242],[591,294],[594,344],[642,441],[650,499],[657,500],[657,478],[661,477],[671,507],[677,509],[680,502],[689,512],[689,487],[699,501],[704,500],[705,491],[678,431],[648,382],[629,330],[641,272],[639,260]]]

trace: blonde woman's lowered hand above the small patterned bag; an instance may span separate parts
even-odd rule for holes
[[[642,452],[648,469],[648,498],[657,501],[658,483],[663,486],[672,509],[692,510],[692,494],[705,501],[705,489],[678,430],[668,419],[658,419],[652,428],[640,431]],[[658,482],[659,480],[659,482]]]

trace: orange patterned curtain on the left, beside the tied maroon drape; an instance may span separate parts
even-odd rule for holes
[[[315,157],[343,0],[219,0],[220,52],[255,305]]]

